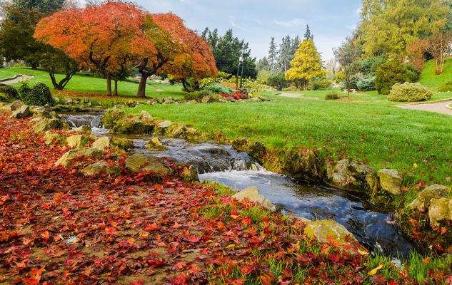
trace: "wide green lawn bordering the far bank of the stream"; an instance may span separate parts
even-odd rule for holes
[[[318,92],[303,94],[320,97]],[[328,91],[322,92],[324,96]],[[403,110],[372,95],[353,96],[356,101],[266,97],[273,101],[141,105],[129,112],[147,110],[156,118],[188,123],[212,135],[246,136],[270,147],[323,147],[336,158],[345,153],[376,168],[400,170],[411,176],[408,182],[448,184],[451,116]]]

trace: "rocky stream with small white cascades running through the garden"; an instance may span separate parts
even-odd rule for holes
[[[101,114],[61,115],[73,128],[89,125],[93,134],[103,136]],[[111,135],[109,135],[111,136]],[[167,150],[148,150],[150,135],[114,135],[134,141],[135,152],[147,152],[170,157],[197,167],[200,180],[211,180],[233,190],[258,187],[283,213],[306,219],[333,219],[350,231],[372,252],[391,257],[408,257],[413,245],[403,237],[397,219],[390,212],[372,207],[366,197],[325,185],[298,182],[284,175],[265,170],[246,152],[237,152],[230,145],[211,142],[187,142],[182,139],[160,138]]]

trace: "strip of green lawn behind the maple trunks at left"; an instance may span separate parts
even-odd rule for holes
[[[34,85],[36,83],[46,83],[47,86],[53,88],[49,73],[46,71],[34,71],[31,68],[0,68],[0,78],[10,78],[18,74],[33,75],[34,79],[31,79],[29,83]],[[63,78],[63,76],[57,76]],[[16,83],[13,86],[20,86],[21,83]],[[146,96],[154,98],[182,98],[184,92],[182,92],[182,86],[176,84],[171,86],[169,84],[156,83],[154,81],[149,82],[149,86],[146,88]],[[77,74],[74,76],[64,90],[80,92],[80,93],[106,93],[106,81],[102,78],[94,78],[89,74]],[[138,90],[138,84],[132,81],[121,81],[118,84],[119,95],[134,96]],[[163,91],[159,91],[163,90]]]

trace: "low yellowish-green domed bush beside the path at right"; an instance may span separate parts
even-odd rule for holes
[[[418,102],[431,98],[430,90],[419,83],[396,83],[388,95],[388,100],[396,102]]]

